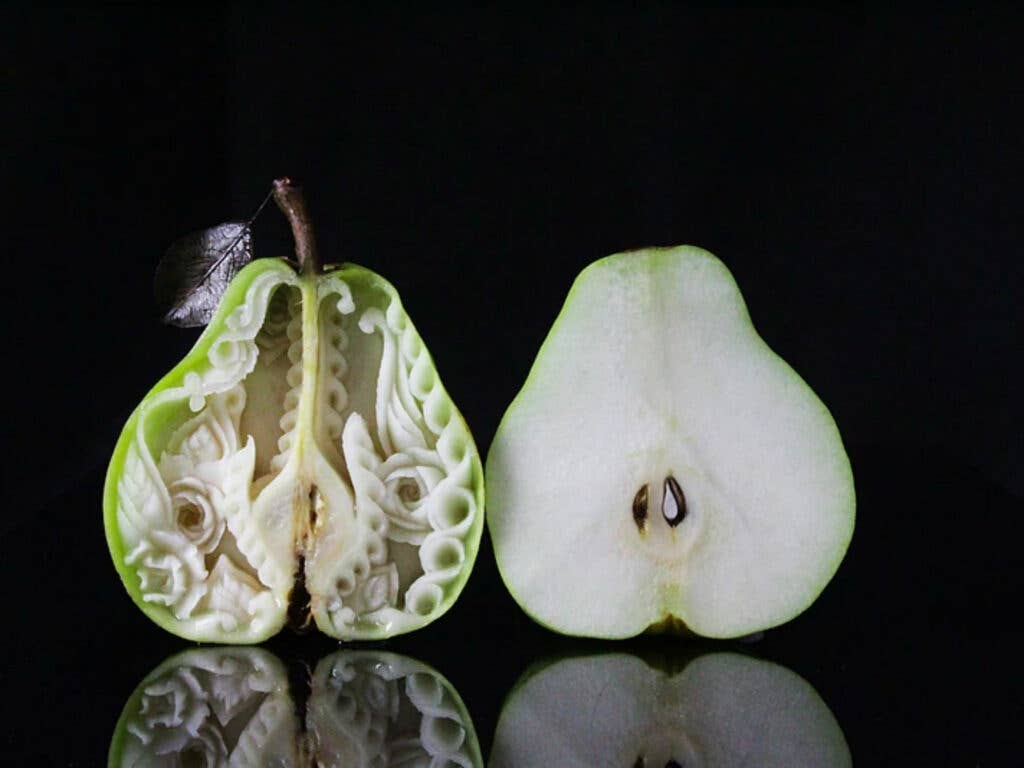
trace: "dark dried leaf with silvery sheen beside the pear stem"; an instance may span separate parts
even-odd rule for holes
[[[154,282],[164,323],[194,328],[210,322],[231,279],[252,261],[249,224],[228,221],[187,234],[167,249]]]

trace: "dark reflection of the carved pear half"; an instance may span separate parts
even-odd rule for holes
[[[300,726],[300,723],[302,725]],[[125,705],[110,766],[482,766],[469,713],[426,665],[339,651],[316,667],[305,715],[259,648],[208,648],[158,667]]]

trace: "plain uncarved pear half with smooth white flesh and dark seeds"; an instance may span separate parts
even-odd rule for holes
[[[580,274],[486,482],[505,584],[570,635],[776,626],[814,601],[853,532],[831,416],[757,334],[728,269],[693,247]]]

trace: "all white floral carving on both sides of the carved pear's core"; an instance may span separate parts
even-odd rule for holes
[[[260,611],[272,612],[267,585],[287,589],[291,579],[291,565],[270,555],[265,530],[252,519],[250,496],[270,478],[254,485],[255,445],[240,430],[243,382],[257,356],[287,354],[289,389],[271,474],[289,464],[299,426],[303,340],[300,292],[275,296],[283,284],[297,285],[297,279],[283,270],[257,275],[209,345],[209,366],[146,401],[118,480],[125,561],[143,599],[195,627],[233,630]],[[317,302],[327,305],[321,309],[317,428],[330,438],[332,459],[344,464],[361,531],[336,566],[337,595],[328,603],[340,631],[380,611],[422,617],[438,610],[464,570],[464,541],[481,513],[468,430],[397,296],[390,290],[384,296],[385,309],[366,308],[357,321],[359,332],[381,341],[371,434],[367,421],[350,412],[343,381],[352,375],[345,357],[352,339],[343,321],[355,311],[351,290],[336,275],[317,287]],[[147,414],[176,403],[187,403],[195,415],[173,430],[155,460],[145,438]],[[422,573],[404,594],[388,543],[420,548]]]

